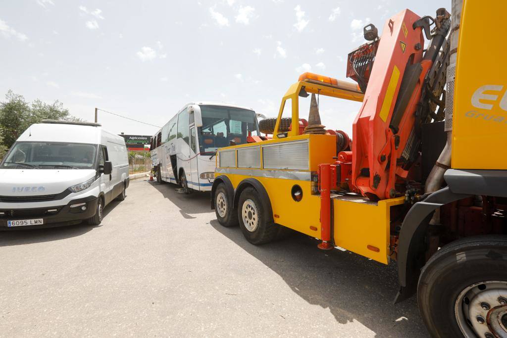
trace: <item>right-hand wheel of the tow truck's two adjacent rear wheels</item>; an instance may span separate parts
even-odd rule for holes
[[[267,219],[259,194],[252,187],[247,187],[239,197],[238,220],[248,242],[258,245],[275,239],[279,226]]]

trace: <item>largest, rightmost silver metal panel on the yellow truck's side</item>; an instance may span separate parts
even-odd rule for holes
[[[264,145],[265,169],[309,170],[308,140]]]

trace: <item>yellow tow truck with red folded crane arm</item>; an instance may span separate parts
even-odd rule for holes
[[[357,84],[302,74],[271,138],[219,149],[219,222],[256,245],[289,228],[322,250],[396,260],[395,302],[417,293],[431,335],[507,336],[506,12],[453,0],[452,15],[404,10],[381,36],[366,26],[348,55]],[[351,138],[321,124],[321,96],[363,102]]]

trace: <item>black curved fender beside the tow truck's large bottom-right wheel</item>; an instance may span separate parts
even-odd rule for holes
[[[398,279],[400,290],[394,303],[399,303],[417,290],[420,269],[424,266],[425,236],[433,212],[441,206],[469,197],[456,194],[448,186],[438,190],[421,202],[415,203],[403,220],[398,242]]]

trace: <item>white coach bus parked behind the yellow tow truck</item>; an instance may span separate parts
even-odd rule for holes
[[[226,103],[188,103],[153,137],[157,181],[179,184],[183,192],[210,191],[216,149],[258,136],[256,112]]]

